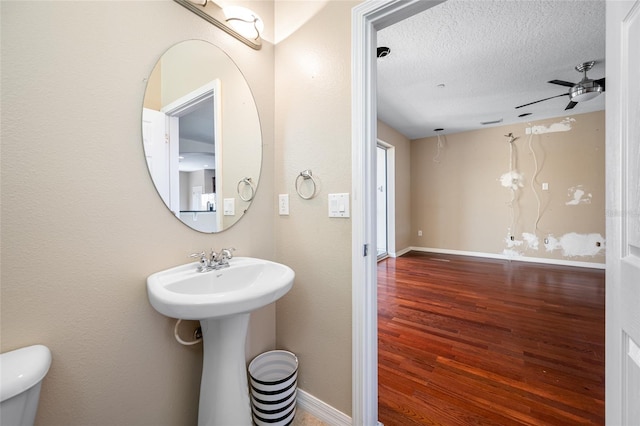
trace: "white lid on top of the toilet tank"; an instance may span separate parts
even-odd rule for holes
[[[43,345],[0,354],[0,402],[37,385],[51,365],[51,351]]]

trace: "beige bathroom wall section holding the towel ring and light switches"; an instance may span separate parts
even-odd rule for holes
[[[277,2],[277,18],[298,12],[299,4]],[[326,2],[307,21],[296,21],[304,23],[276,46],[275,193],[291,200],[290,215],[276,216],[276,251],[296,271],[293,289],[277,304],[277,342],[298,354],[299,387],[347,414],[351,219],[328,217],[327,194],[351,192],[349,40],[356,4]],[[316,198],[308,201],[294,189],[305,169],[319,182]]]

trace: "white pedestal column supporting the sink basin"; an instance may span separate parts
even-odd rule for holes
[[[245,361],[249,317],[200,320],[204,353],[198,426],[252,424]]]

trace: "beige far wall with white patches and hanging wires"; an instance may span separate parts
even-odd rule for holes
[[[604,112],[572,118],[442,136],[439,155],[437,138],[412,141],[411,245],[604,264]],[[523,176],[513,195],[500,180],[510,170],[508,133]]]

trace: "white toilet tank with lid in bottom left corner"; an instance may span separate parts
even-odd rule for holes
[[[0,425],[33,426],[51,351],[33,345],[0,354]]]

